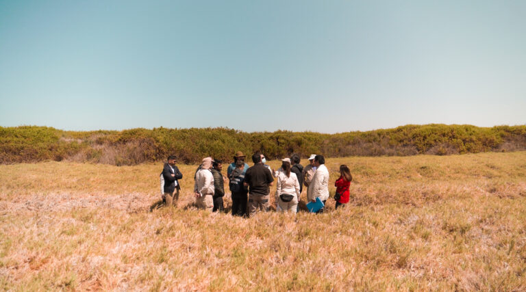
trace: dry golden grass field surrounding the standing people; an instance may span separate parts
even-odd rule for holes
[[[526,152],[341,163],[345,209],[248,220],[194,207],[196,165],[151,213],[161,163],[0,165],[0,289],[526,291]]]

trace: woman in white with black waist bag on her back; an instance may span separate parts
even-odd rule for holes
[[[276,202],[278,211],[296,214],[299,198],[299,181],[294,172],[290,172],[290,159],[281,160],[281,170],[277,172]]]

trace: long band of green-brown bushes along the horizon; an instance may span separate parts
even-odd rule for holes
[[[51,127],[0,127],[0,163],[79,161],[134,165],[166,159],[196,163],[212,156],[231,161],[234,152],[260,150],[268,158],[297,152],[326,157],[451,155],[526,149],[526,126],[406,125],[395,129],[322,134],[275,131],[245,133],[227,128],[62,131]],[[248,156],[247,155],[247,156]]]

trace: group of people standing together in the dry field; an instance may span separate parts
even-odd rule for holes
[[[276,181],[276,210],[297,213],[303,186],[307,188],[307,201],[316,202],[318,198],[325,203],[329,198],[329,170],[325,166],[323,155],[310,155],[309,164],[303,168],[299,155],[281,159],[281,168],[273,171],[266,164],[266,158],[260,152],[252,155],[253,166],[245,162],[245,155],[238,151],[234,162],[228,165],[224,176],[223,161],[206,157],[195,172],[193,194],[197,206],[210,212],[223,211],[225,183],[231,192],[232,215],[253,216],[258,211],[270,209],[270,187]],[[168,157],[162,170],[161,185],[164,204],[175,205],[181,189],[178,180],[183,177],[175,165],[175,157]],[[275,179],[276,178],[276,179]],[[349,202],[349,187],[352,181],[347,165],[340,165],[340,177],[336,180],[336,209],[345,207]],[[316,213],[323,213],[323,208]]]

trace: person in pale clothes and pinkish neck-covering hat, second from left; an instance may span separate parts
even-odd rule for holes
[[[212,157],[203,159],[201,169],[195,174],[194,194],[197,207],[212,212],[214,209],[214,176],[210,172]]]

